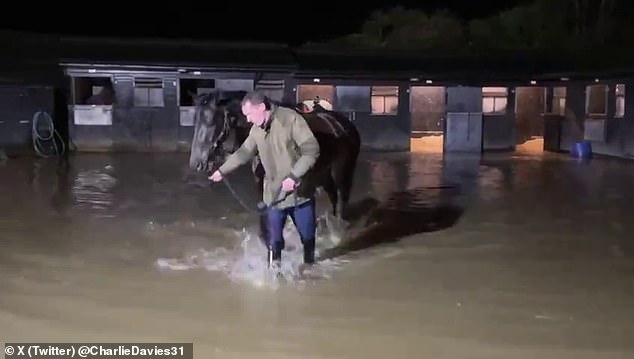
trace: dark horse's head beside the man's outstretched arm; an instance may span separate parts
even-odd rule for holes
[[[227,139],[237,126],[246,122],[240,103],[243,92],[205,93],[195,98],[194,136],[189,167],[196,171],[212,171],[235,150]],[[234,141],[235,142],[235,141]]]

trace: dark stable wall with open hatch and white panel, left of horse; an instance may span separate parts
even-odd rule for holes
[[[88,81],[108,79],[114,102],[97,100],[91,104],[85,95],[78,95],[86,85],[70,79],[73,102],[69,131],[79,151],[177,150],[179,112],[174,75],[100,73],[80,77]]]

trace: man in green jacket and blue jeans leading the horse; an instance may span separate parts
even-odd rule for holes
[[[317,139],[306,120],[295,110],[272,104],[259,91],[244,97],[242,113],[253,124],[249,136],[209,179],[221,181],[224,175],[259,154],[265,171],[263,201],[270,206],[281,200],[270,206],[265,214],[266,242],[271,252],[269,261],[279,266],[284,249],[284,224],[290,216],[304,247],[304,263],[312,264],[316,231],[314,189],[307,188],[305,194],[296,189],[302,176],[319,157]]]

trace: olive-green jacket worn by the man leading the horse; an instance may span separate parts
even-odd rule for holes
[[[271,105],[267,127],[251,126],[242,146],[218,170],[225,175],[258,154],[266,173],[262,200],[270,205],[284,196],[280,192],[284,179],[292,177],[301,181],[302,176],[315,164],[319,157],[319,144],[306,120],[290,108]],[[279,197],[276,197],[278,194]],[[276,207],[299,205],[308,200],[306,197],[291,193]]]

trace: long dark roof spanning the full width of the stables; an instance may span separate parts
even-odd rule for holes
[[[13,76],[59,69],[60,64],[200,67],[280,71],[296,77],[515,81],[560,77],[630,76],[634,53],[496,52],[450,54],[398,50],[351,50],[325,46],[291,48],[280,43],[156,38],[99,38],[0,32],[0,66]],[[597,55],[605,54],[605,55]],[[28,71],[27,71],[28,70]],[[0,70],[1,71],[1,70]],[[2,77],[0,73],[0,78]]]

